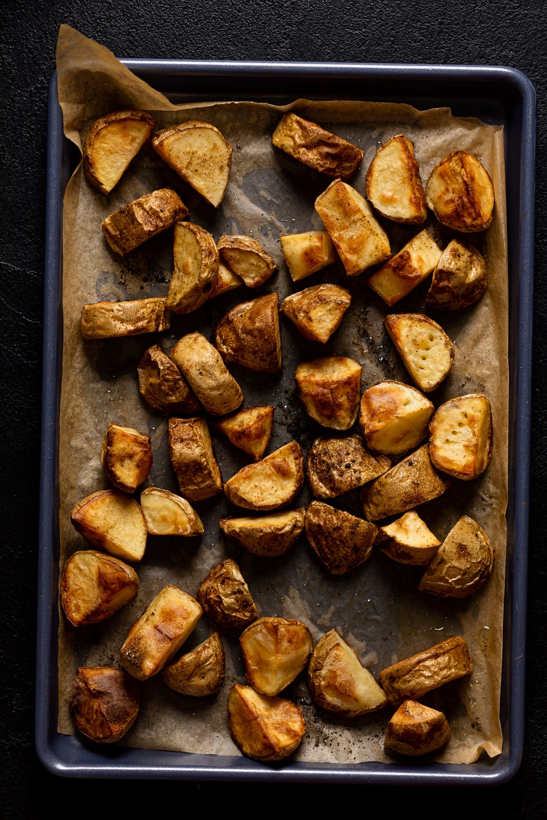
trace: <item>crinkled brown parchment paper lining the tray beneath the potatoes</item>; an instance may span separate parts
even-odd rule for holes
[[[326,345],[308,342],[282,318],[284,368],[280,376],[256,374],[232,367],[244,390],[245,404],[269,403],[276,408],[274,432],[267,452],[296,438],[307,450],[325,430],[303,411],[294,390],[294,370],[306,358],[337,353],[362,363],[362,387],[384,378],[409,382],[383,320],[390,312],[366,285],[366,276],[349,279],[343,268],[291,282],[280,253],[279,237],[286,233],[321,229],[313,203],[330,180],[310,171],[271,146],[271,132],[280,112],[294,110],[321,122],[365,151],[352,185],[364,193],[367,167],[379,145],[402,131],[416,147],[422,179],[455,148],[481,158],[495,185],[495,214],[482,234],[467,235],[488,263],[489,287],[480,303],[467,311],[435,315],[456,346],[453,370],[431,394],[438,406],[461,394],[484,392],[494,415],[495,444],[490,467],[476,481],[454,481],[443,498],[420,512],[443,539],[461,515],[484,527],[495,549],[490,580],[479,594],[464,600],[444,600],[419,594],[419,567],[406,567],[376,552],[369,561],[344,576],[330,576],[312,555],[302,537],[281,558],[257,558],[225,540],[218,526],[222,515],[244,514],[230,508],[223,495],[196,504],[203,518],[202,538],[148,539],[147,552],[136,567],[139,596],[109,621],[72,628],[61,614],[59,630],[59,724],[62,733],[74,729],[67,707],[72,677],[78,666],[119,666],[119,648],[131,624],[166,583],[196,594],[199,583],[218,562],[235,557],[259,613],[299,617],[315,640],[332,628],[340,631],[359,657],[378,676],[382,668],[439,643],[463,635],[472,654],[471,676],[431,692],[424,700],[446,713],[452,738],[439,759],[471,763],[481,754],[501,750],[499,686],[502,660],[504,568],[506,547],[508,438],[508,286],[507,226],[504,194],[503,132],[499,126],[458,119],[448,109],[419,112],[407,104],[322,102],[296,100],[286,107],[266,103],[184,103],[176,105],[139,80],[106,48],[63,25],[57,46],[59,99],[66,136],[80,148],[90,123],[123,107],[152,113],[157,128],[180,121],[205,120],[216,125],[234,149],[226,197],[215,210],[204,203],[150,148],[144,148],[119,185],[105,197],[89,185],[79,168],[67,189],[63,215],[62,399],[60,418],[61,567],[87,543],[70,523],[71,508],[95,490],[108,486],[100,466],[101,442],[107,424],[132,426],[152,436],[154,466],[146,485],[178,492],[167,455],[166,417],[153,412],[140,398],[136,364],[151,344],[169,351],[181,335],[201,330],[211,338],[216,321],[235,304],[276,290],[280,300],[296,289],[335,281],[348,288],[352,304],[340,329]],[[181,88],[189,94],[192,89]],[[310,96],[321,89],[310,87]],[[343,89],[341,90],[341,95]],[[219,94],[220,96],[220,94]],[[103,238],[101,221],[121,204],[153,189],[170,186],[190,210],[189,219],[212,232],[255,237],[276,259],[279,271],[257,290],[242,288],[206,303],[186,317],[172,317],[171,330],[162,335],[84,342],[80,334],[84,303],[166,295],[172,270],[172,232],[166,231],[121,260]],[[392,248],[399,250],[417,232],[384,221]],[[453,234],[433,216],[427,230],[445,247]],[[421,229],[420,229],[421,230]],[[429,283],[416,289],[395,311],[425,312]],[[357,428],[356,428],[357,429]],[[217,458],[225,481],[246,463],[243,453],[215,438]],[[137,498],[138,498],[138,494]],[[306,488],[297,499],[308,503]],[[334,499],[335,506],[362,516],[358,492]],[[215,625],[203,617],[185,651],[204,640]],[[122,744],[146,749],[172,749],[207,754],[239,754],[230,739],[226,695],[235,681],[244,682],[238,635],[221,631],[226,648],[226,681],[210,698],[176,695],[152,678],[141,686],[139,719]],[[304,676],[285,694],[302,708],[307,731],[294,757],[319,763],[392,763],[383,751],[385,725],[392,710],[341,719],[318,710],[310,699]]]

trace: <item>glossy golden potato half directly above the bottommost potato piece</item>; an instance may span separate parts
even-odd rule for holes
[[[262,695],[279,695],[312,654],[308,626],[295,618],[261,617],[239,637],[248,683]]]

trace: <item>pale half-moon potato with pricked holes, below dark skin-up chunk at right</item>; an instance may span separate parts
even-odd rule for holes
[[[454,344],[449,336],[423,313],[392,313],[385,317],[384,325],[414,383],[424,393],[431,393],[454,364]]]

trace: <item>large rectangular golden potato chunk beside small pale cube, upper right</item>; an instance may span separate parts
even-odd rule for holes
[[[348,276],[390,256],[390,240],[361,194],[342,180],[331,182],[319,194],[315,209],[335,244]]]

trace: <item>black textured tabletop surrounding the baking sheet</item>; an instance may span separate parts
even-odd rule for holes
[[[2,3],[2,244],[0,300],[4,386],[2,444],[2,703],[0,807],[7,818],[62,817],[150,809],[262,813],[264,786],[67,781],[49,775],[34,754],[34,634],[39,498],[43,222],[48,81],[55,69],[59,25],[75,26],[118,57],[190,59],[423,62],[513,66],[538,94],[536,285],[532,412],[530,585],[526,682],[526,743],[513,781],[489,789],[353,790],[359,813],[450,815],[492,810],[496,797],[518,817],[545,816],[545,330],[547,212],[547,83],[543,0],[71,0]],[[304,794],[305,790],[305,794]],[[454,795],[451,792],[454,791]],[[326,794],[328,792],[328,795]],[[340,786],[276,787],[278,810],[338,811]],[[336,801],[332,808],[326,798]],[[301,805],[306,799],[306,806]],[[319,804],[319,800],[323,801]],[[199,801],[199,802],[198,802]],[[358,802],[357,802],[358,801]],[[411,802],[412,801],[412,802]],[[345,802],[345,795],[344,795]],[[500,804],[501,807],[502,804]],[[201,809],[200,809],[201,806]],[[144,804],[140,807],[144,809]],[[276,804],[272,804],[276,811]],[[352,810],[343,804],[343,809]],[[448,810],[447,810],[448,809]],[[1,809],[0,809],[1,810]],[[139,806],[137,806],[139,810]],[[499,811],[502,811],[499,808]]]

